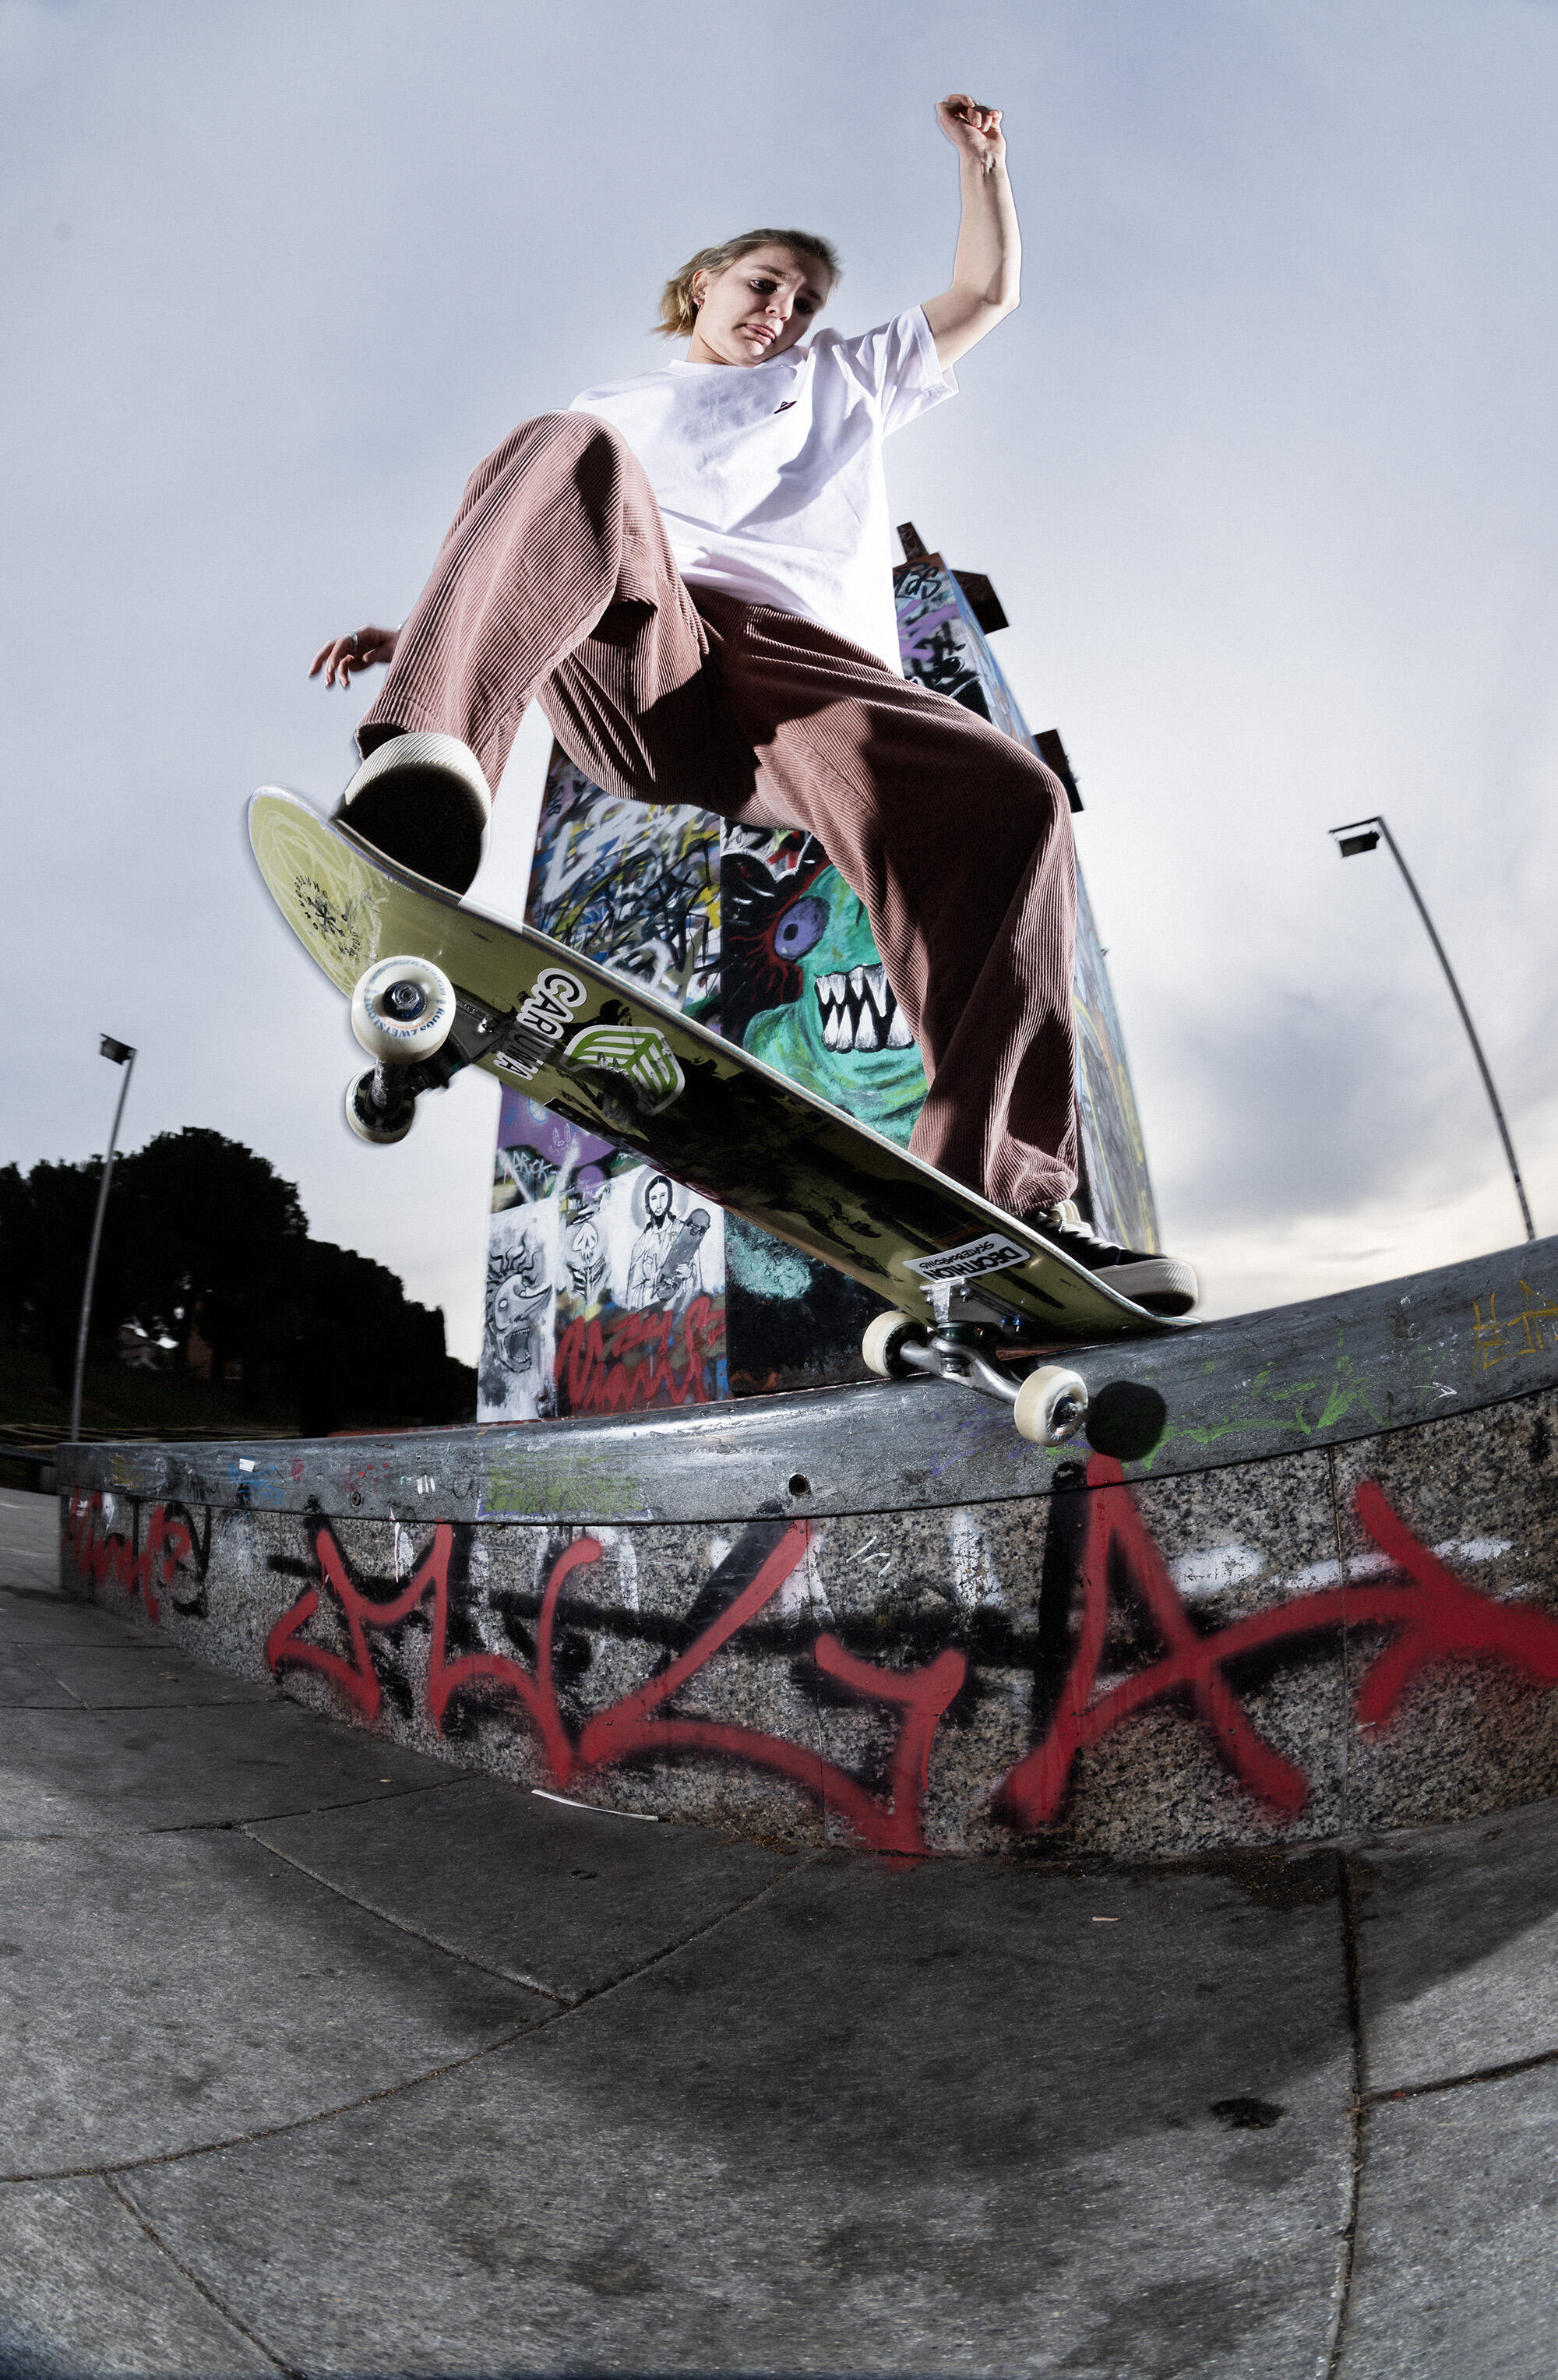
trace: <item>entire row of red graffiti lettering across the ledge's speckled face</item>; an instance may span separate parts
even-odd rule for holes
[[[1380,1633],[1377,1649],[1365,1654],[1368,1666],[1353,1704],[1356,1718],[1365,1728],[1389,1723],[1411,1680],[1441,1661],[1501,1661],[1539,1685],[1558,1685],[1558,1621],[1529,1606],[1496,1604],[1468,1587],[1391,1511],[1372,1480],[1358,1488],[1353,1502],[1363,1528],[1391,1561],[1394,1576],[1301,1595],[1211,1635],[1196,1630],[1175,1590],[1125,1485],[1120,1464],[1094,1454],[1087,1466],[1087,1488],[1075,1566],[1078,1640],[1044,1740],[1011,1768],[997,1792],[994,1806],[1011,1825],[1051,1825],[1066,1804],[1078,1756],[1168,1697],[1189,1704],[1225,1766],[1256,1802],[1277,1818],[1294,1818],[1308,1802],[1308,1780],[1258,1730],[1239,1690],[1230,1683],[1230,1668],[1244,1656],[1265,1654],[1270,1659],[1273,1652],[1299,1647],[1325,1633],[1344,1628]],[[107,1526],[102,1495],[74,1495],[64,1542],[83,1580],[93,1587],[117,1585],[124,1595],[140,1597],[150,1621],[162,1618],[159,1590],[171,1592],[178,1571],[186,1564],[195,1566],[190,1528],[178,1518],[178,1509],[169,1516],[162,1504],[145,1511],[145,1542],[136,1547],[133,1535],[126,1537]],[[754,1557],[761,1542],[756,1540]],[[811,1799],[837,1811],[875,1849],[923,1852],[930,1754],[937,1728],[968,1676],[968,1656],[961,1649],[947,1647],[918,1671],[894,1671],[859,1659],[830,1633],[811,1642],[811,1659],[825,1678],[847,1695],[875,1702],[892,1714],[892,1742],[880,1785],[861,1783],[787,1737],[668,1709],[678,1692],[764,1611],[794,1573],[806,1542],[806,1523],[792,1523],[778,1533],[756,1573],[685,1652],[659,1676],[597,1711],[578,1730],[561,1711],[552,1664],[559,1602],[568,1580],[602,1559],[595,1537],[576,1540],[552,1564],[540,1604],[535,1664],[528,1668],[509,1654],[450,1654],[450,1559],[454,1552],[450,1523],[438,1523],[409,1583],[388,1602],[373,1602],[354,1585],[335,1537],[328,1528],[319,1528],[321,1585],[304,1587],[293,1609],[276,1621],[266,1640],[266,1664],[271,1673],[285,1666],[316,1671],[373,1726],[383,1709],[383,1687],[373,1666],[371,1637],[395,1628],[431,1599],[426,1711],[440,1733],[457,1697],[502,1692],[519,1704],[535,1730],[547,1773],[557,1785],[568,1785],[621,1761],[664,1759],[678,1752],[704,1754],[787,1778]],[[1120,1573],[1149,1614],[1163,1649],[1158,1659],[1099,1692],[1111,1576],[1118,1580]],[[304,1635],[321,1609],[321,1590],[328,1592],[345,1626],[345,1652],[312,1645]]]

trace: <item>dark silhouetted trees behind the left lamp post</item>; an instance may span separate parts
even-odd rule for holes
[[[69,1388],[102,1159],[0,1166],[0,1340]],[[93,1297],[93,1352],[133,1323],[171,1371],[233,1402],[290,1409],[304,1435],[469,1421],[476,1373],[445,1352],[442,1311],[397,1276],[312,1240],[293,1183],[238,1140],[186,1126],[117,1159]]]

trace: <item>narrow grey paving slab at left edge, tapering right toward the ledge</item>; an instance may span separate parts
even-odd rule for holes
[[[14,1711],[0,1737],[0,1837],[240,1825],[442,1787],[459,1773],[285,1699]]]

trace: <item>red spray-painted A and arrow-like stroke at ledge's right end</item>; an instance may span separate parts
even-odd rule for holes
[[[1225,1666],[1265,1647],[1358,1626],[1387,1626],[1391,1645],[1372,1661],[1356,1699],[1363,1726],[1380,1726],[1399,1709],[1401,1692],[1430,1661],[1494,1659],[1544,1685],[1558,1683],[1558,1621],[1544,1611],[1506,1611],[1453,1576],[1387,1504],[1375,1480],[1363,1480],[1353,1507],[1365,1530],[1403,1580],[1325,1587],[1289,1604],[1199,1635],[1168,1576],[1142,1514],[1111,1454],[1087,1464],[1087,1521],[1080,1557],[1082,1628],[1066,1673],[1061,1704],[1042,1745],[1018,1761],[999,1790],[999,1806],[1016,1825],[1049,1825],[1061,1814],[1070,1768],[1113,1728],[1168,1695],[1187,1695],[1215,1749],[1254,1799],[1280,1818],[1296,1818],[1308,1780],[1251,1723],[1227,1685]],[[1108,1626],[1111,1552],[1125,1564],[1163,1640],[1163,1659],[1123,1678],[1094,1699]]]

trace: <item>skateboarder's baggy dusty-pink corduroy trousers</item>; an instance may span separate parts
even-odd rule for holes
[[[925,1064],[913,1152],[1009,1214],[1070,1197],[1075,857],[1035,752],[813,621],[695,595],[590,414],[526,421],[473,471],[359,743],[459,735],[497,788],[530,700],[611,793],[809,828]]]

